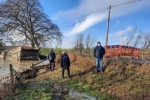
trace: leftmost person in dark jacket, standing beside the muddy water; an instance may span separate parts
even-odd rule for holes
[[[49,60],[49,68],[51,71],[53,71],[55,69],[55,53],[53,52],[52,48],[50,49],[47,59]]]

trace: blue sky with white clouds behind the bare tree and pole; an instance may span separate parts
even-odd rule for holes
[[[129,1],[137,2],[117,6]],[[150,33],[150,0],[39,0],[39,2],[44,13],[63,33],[61,48],[72,48],[78,34],[84,34],[85,37],[91,34],[105,46],[107,8],[110,5],[112,8],[108,45],[125,44],[127,35],[135,27],[137,33],[139,31]],[[54,43],[52,47],[56,47],[56,44]]]

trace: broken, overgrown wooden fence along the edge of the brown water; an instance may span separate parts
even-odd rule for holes
[[[21,89],[21,87],[26,84],[26,79],[36,77],[37,72],[47,66],[43,64],[44,61],[45,60],[32,64],[29,69],[26,69],[23,72],[17,72],[13,69],[12,64],[10,64],[10,74],[4,75],[0,78],[0,100],[5,99]],[[40,63],[42,65],[36,66]]]

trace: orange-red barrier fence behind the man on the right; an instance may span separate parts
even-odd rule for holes
[[[139,48],[134,48],[130,46],[123,45],[111,45],[105,46],[106,58],[113,58],[119,56],[130,56],[130,57],[140,57],[141,50]]]

